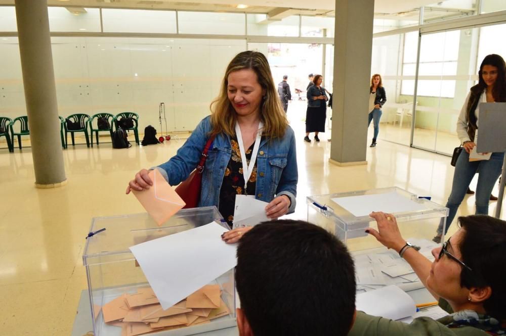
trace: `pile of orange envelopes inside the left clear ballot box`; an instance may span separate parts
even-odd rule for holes
[[[139,288],[136,294],[124,294],[102,307],[104,322],[121,327],[121,336],[208,323],[229,313],[218,284],[205,285],[165,310],[151,287]]]

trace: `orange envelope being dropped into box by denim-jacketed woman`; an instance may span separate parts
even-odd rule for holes
[[[176,212],[183,209],[186,203],[157,169],[151,170],[148,175],[153,181],[153,185],[149,189],[132,191],[144,209],[160,226]]]

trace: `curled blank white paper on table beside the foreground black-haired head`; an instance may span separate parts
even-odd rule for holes
[[[355,302],[357,310],[393,320],[411,316],[416,312],[413,299],[395,285],[360,293]]]

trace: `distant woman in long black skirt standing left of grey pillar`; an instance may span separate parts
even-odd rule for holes
[[[327,93],[321,87],[323,81],[322,75],[315,75],[314,85],[308,88],[307,99],[308,109],[306,110],[306,136],[304,141],[311,142],[309,133],[315,132],[315,141],[319,132],[325,132],[325,119],[327,118]]]

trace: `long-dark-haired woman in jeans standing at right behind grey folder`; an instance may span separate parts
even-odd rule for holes
[[[478,75],[478,84],[471,87],[457,120],[457,136],[464,151],[460,153],[455,164],[451,193],[446,203],[446,207],[450,211],[446,220],[445,234],[455,218],[460,203],[466,196],[471,180],[478,171],[476,214],[488,215],[488,202],[495,181],[501,173],[504,159],[504,153],[492,153],[488,160],[469,161],[470,153],[476,151],[479,132],[479,104],[506,102],[506,64],[502,57],[495,54],[486,56],[481,62]],[[433,241],[440,243],[442,234],[443,220],[439,224]]]

